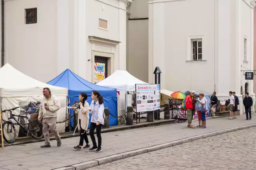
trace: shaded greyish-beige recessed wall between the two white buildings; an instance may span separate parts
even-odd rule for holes
[[[127,71],[136,78],[148,82],[148,0],[134,0],[128,10],[131,19],[128,21],[128,56]],[[153,72],[150,72],[153,74]]]

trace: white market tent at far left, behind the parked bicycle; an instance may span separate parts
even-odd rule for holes
[[[28,102],[40,102],[43,97],[43,88],[48,87],[52,94],[57,96],[60,101],[60,109],[57,111],[57,121],[66,119],[67,88],[51,86],[35,80],[16,70],[10,64],[5,64],[0,68],[0,80],[0,100],[2,110],[18,107],[21,104],[26,104]],[[20,115],[21,113],[22,111],[20,108],[13,111],[13,114],[15,115]],[[2,118],[3,120],[8,120],[8,115],[3,113]],[[65,132],[65,123],[57,124],[57,129],[60,133]],[[16,130],[18,134],[19,128],[16,127]]]

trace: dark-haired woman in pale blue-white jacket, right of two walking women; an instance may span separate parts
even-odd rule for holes
[[[92,139],[93,147],[89,149],[89,151],[101,152],[101,128],[104,125],[104,104],[103,97],[100,95],[98,91],[92,91],[92,103],[90,107],[91,124],[90,124],[90,137]],[[96,134],[98,138],[98,147],[94,137],[94,130],[96,129]]]

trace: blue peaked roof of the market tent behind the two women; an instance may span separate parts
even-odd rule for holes
[[[101,87],[88,82],[69,69],[66,69],[47,84],[68,88],[68,96],[70,98],[77,98],[81,92],[91,93],[92,90],[100,92],[104,97],[116,97],[116,89]]]

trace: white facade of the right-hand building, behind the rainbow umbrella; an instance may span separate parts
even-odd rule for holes
[[[252,96],[254,7],[250,0],[149,0],[148,79],[156,66],[161,88],[216,91],[219,100],[234,91]],[[254,107],[253,107],[254,109]]]

